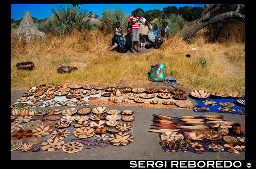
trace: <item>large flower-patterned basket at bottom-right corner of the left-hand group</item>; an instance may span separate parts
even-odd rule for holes
[[[127,132],[118,132],[116,134],[110,135],[108,138],[110,144],[115,146],[125,146],[134,141],[134,137]]]

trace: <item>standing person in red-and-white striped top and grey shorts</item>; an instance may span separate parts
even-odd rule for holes
[[[131,53],[134,53],[133,48],[134,48],[134,41],[136,41],[137,45],[137,52],[140,53],[139,51],[139,40],[140,40],[140,26],[138,22],[142,17],[137,17],[138,11],[135,10],[133,16],[130,17],[131,23],[132,23],[132,42],[131,42]]]

